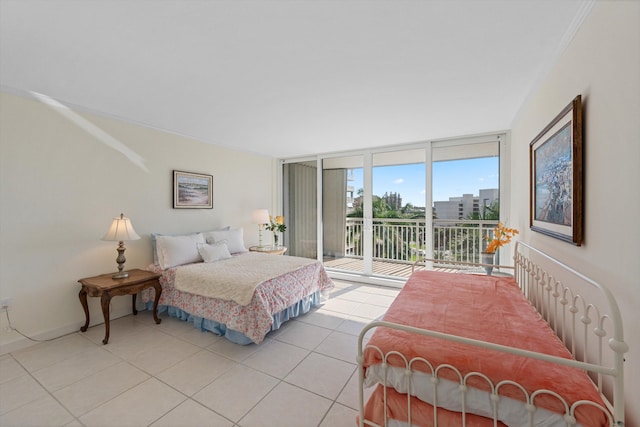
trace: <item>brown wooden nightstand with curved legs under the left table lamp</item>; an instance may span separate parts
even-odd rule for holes
[[[147,289],[154,288],[156,298],[153,302],[153,319],[156,324],[159,324],[162,319],[158,318],[158,301],[160,301],[160,295],[162,294],[162,287],[160,286],[160,275],[151,271],[145,270],[129,270],[129,277],[124,279],[113,279],[113,273],[103,274],[101,276],[87,277],[86,279],[80,279],[78,282],[82,284],[78,297],[80,303],[84,309],[84,314],[87,318],[83,327],[80,328],[81,332],[86,332],[89,327],[89,306],[87,305],[87,295],[90,297],[101,297],[102,315],[104,316],[105,334],[102,344],[109,342],[109,303],[111,297],[119,295],[131,295],[133,302],[133,314],[138,314],[136,310],[136,296],[138,292]]]

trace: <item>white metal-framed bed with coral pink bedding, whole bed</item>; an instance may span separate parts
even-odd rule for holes
[[[610,291],[521,242],[514,265],[411,275],[358,340],[361,427],[624,425]]]

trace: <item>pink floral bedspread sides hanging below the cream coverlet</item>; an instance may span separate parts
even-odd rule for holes
[[[179,268],[178,266],[162,270],[153,264],[147,267],[149,271],[162,274],[162,294],[158,304],[178,307],[194,316],[223,323],[228,328],[243,333],[256,344],[261,343],[269,332],[275,313],[314,292],[334,287],[322,263],[315,262],[260,283],[251,302],[248,305],[239,305],[234,301],[204,297],[176,289],[174,281]],[[153,288],[145,289],[140,296],[142,301],[147,303],[154,300],[155,291]]]

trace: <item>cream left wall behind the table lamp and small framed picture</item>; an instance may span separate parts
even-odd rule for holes
[[[83,114],[145,159],[148,172],[31,98],[0,93],[0,297],[31,336],[76,331],[84,323],[77,280],[117,269],[116,242],[100,238],[111,218],[131,218],[141,240],[125,243],[125,268],[152,261],[151,232],[244,227],[257,244],[256,208],[271,208],[275,161],[166,132]],[[212,118],[215,120],[215,118]],[[213,175],[214,209],[173,209],[172,170]],[[92,324],[102,322],[90,298]],[[112,300],[113,317],[131,300]],[[25,344],[0,318],[0,353]]]

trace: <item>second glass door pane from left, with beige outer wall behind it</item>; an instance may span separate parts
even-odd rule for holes
[[[325,267],[364,272],[362,156],[322,162],[322,247]]]

